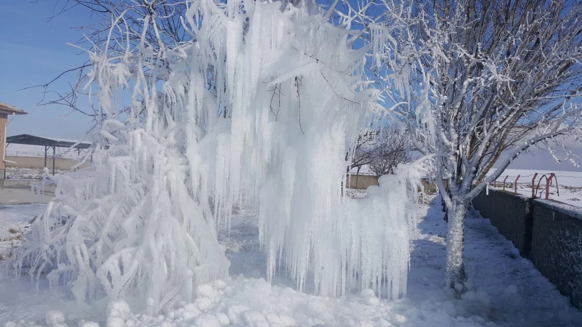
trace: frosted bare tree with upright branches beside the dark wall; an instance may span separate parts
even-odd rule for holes
[[[449,212],[446,286],[463,292],[471,199],[532,145],[580,138],[582,6],[566,0],[384,3],[384,19],[369,25],[371,74],[416,148],[434,159]]]

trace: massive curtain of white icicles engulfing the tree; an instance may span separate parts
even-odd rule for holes
[[[161,91],[134,71],[151,49],[91,53],[110,146],[92,168],[54,177],[57,199],[15,265],[68,283],[80,302],[132,297],[157,312],[228,277],[217,230],[233,205],[258,204],[269,279],[281,271],[325,296],[405,294],[416,170],[382,177],[363,200],[342,196],[346,153],[378,96],[361,88],[364,54],[347,31],[279,2],[201,0],[185,18],[197,41],[148,68],[167,76]]]

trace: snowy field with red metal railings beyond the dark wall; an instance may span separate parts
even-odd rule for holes
[[[494,170],[495,169],[491,169],[488,175],[491,175]],[[582,171],[563,172],[553,170],[505,169],[505,171],[501,174],[501,177],[497,179],[496,187],[501,189],[503,187],[503,180],[506,176],[509,176],[505,183],[505,189],[513,191],[514,182],[517,176],[520,175],[519,180],[517,180],[517,193],[523,194],[525,196],[531,196],[531,179],[534,177],[535,173],[538,173],[538,176],[536,176],[535,179],[536,188],[542,175],[549,177],[549,174],[551,173],[556,174],[559,194],[558,191],[556,191],[555,180],[552,180],[549,198],[552,200],[564,202],[566,204],[582,207]],[[491,187],[493,186],[494,184],[491,184]],[[545,179],[540,183],[537,196],[542,198],[545,197]]]

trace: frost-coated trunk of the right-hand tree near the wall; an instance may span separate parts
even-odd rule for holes
[[[463,264],[465,243],[465,215],[469,202],[463,200],[452,201],[452,207],[448,208],[449,224],[446,234],[446,285],[456,290],[457,294],[463,292],[463,283],[467,280],[465,266]]]

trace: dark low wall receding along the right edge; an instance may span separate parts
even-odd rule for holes
[[[582,208],[501,190],[482,191],[473,206],[582,310]]]

